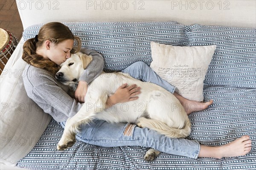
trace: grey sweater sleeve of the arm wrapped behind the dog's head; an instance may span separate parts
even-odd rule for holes
[[[93,60],[90,62],[87,68],[84,69],[83,74],[78,80],[87,82],[87,84],[89,84],[102,73],[104,67],[104,60],[101,54],[91,49],[81,48],[80,51],[93,57]]]

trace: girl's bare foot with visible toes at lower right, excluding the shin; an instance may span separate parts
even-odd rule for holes
[[[244,156],[250,152],[252,149],[252,142],[250,137],[247,135],[242,136],[239,139],[236,139],[233,142],[225,144],[221,146],[220,149],[220,157],[236,157],[236,156]]]

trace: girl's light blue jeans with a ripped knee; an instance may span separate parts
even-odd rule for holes
[[[129,73],[136,79],[166,87],[172,93],[175,90],[172,85],[158,77],[144,62],[135,62],[123,72]],[[61,126],[65,127],[65,122],[61,122]],[[111,124],[103,120],[93,120],[90,124],[81,125],[80,128],[80,132],[76,134],[76,140],[102,147],[144,146],[193,159],[198,157],[200,151],[200,144],[197,141],[169,138],[154,130],[140,128],[128,123]]]

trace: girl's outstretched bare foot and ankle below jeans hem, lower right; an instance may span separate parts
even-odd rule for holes
[[[221,159],[223,157],[244,156],[250,152],[252,142],[250,137],[245,135],[223,146],[201,145],[198,157],[212,157]]]

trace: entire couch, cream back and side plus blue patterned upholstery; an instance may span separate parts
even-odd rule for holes
[[[16,5],[24,34],[0,76],[1,170],[256,169],[255,1],[16,0]],[[1,2],[1,10],[9,8],[16,6],[11,1]],[[138,60],[152,66],[151,41],[175,47],[216,45],[206,75],[201,77],[204,101],[213,99],[214,104],[190,114],[192,133],[188,139],[222,145],[247,134],[252,150],[246,156],[219,160],[161,153],[151,162],[142,159],[145,147],[102,148],[77,142],[70,150],[57,152],[63,129],[26,96],[22,81],[26,63],[21,59],[23,42],[34,37],[42,23],[52,21],[66,22],[82,38],[83,47],[102,53],[105,71],[119,71]],[[110,26],[113,32],[109,32]],[[134,45],[132,49],[127,42]]]

